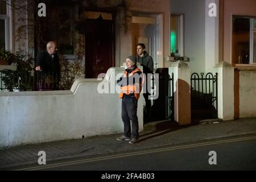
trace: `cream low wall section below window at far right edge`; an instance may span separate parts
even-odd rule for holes
[[[240,71],[240,118],[256,117],[256,71]]]

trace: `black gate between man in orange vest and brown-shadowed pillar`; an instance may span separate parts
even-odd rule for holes
[[[154,88],[155,79],[158,79],[158,90]],[[151,120],[171,119],[174,121],[174,73],[170,76],[168,68],[158,68],[152,75],[152,83],[152,90],[158,92],[158,98],[153,100]]]

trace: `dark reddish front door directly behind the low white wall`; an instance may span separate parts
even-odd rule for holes
[[[85,78],[97,78],[115,66],[114,23],[104,19],[88,19],[86,23]]]

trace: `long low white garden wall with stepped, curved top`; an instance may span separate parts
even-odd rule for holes
[[[123,68],[110,68],[110,85]],[[0,147],[123,132],[118,93],[97,92],[97,79],[79,79],[71,90],[0,93]],[[138,102],[143,130],[143,97]]]

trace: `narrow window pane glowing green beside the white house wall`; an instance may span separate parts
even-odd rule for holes
[[[170,52],[171,55],[179,54],[179,16],[171,15]]]

